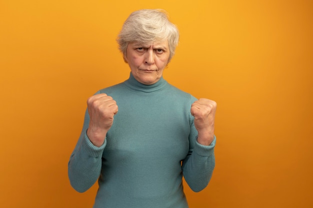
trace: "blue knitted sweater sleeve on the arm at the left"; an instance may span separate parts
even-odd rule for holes
[[[86,111],[80,137],[68,162],[68,178],[77,192],[87,191],[97,181],[101,171],[101,156],[106,145],[106,139],[100,147],[90,142],[86,134],[88,124],[89,115]]]

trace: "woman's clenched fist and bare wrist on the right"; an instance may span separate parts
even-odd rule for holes
[[[214,138],[214,119],[216,102],[200,98],[191,105],[191,115],[194,117],[194,127],[198,131],[197,141],[209,145]]]

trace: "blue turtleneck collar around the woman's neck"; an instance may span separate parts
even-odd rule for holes
[[[132,90],[141,91],[141,92],[153,92],[162,89],[167,82],[163,79],[163,76],[154,84],[146,85],[138,82],[130,72],[129,78],[124,81],[125,85]]]

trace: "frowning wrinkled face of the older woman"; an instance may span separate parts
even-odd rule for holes
[[[154,84],[161,78],[168,63],[168,41],[151,44],[128,43],[124,58],[138,82],[146,85]]]

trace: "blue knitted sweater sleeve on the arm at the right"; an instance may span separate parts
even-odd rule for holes
[[[215,167],[214,147],[216,137],[210,145],[197,142],[197,131],[193,125],[190,128],[189,151],[182,161],[182,173],[190,189],[194,192],[203,190],[209,183]]]

